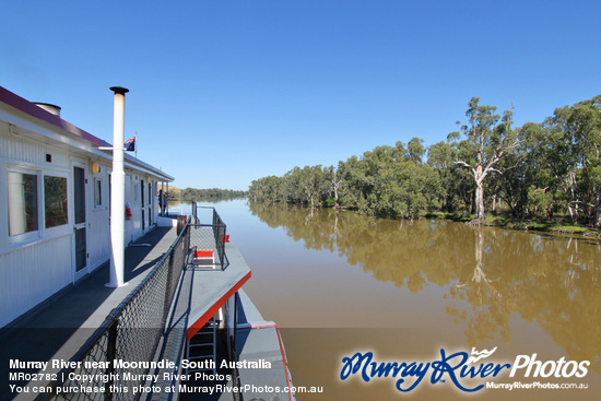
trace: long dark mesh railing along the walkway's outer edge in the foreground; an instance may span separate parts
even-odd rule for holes
[[[75,367],[62,369],[57,375],[59,379],[49,385],[54,393],[40,394],[35,400],[139,400],[143,393],[134,392],[133,388],[144,386],[145,380],[137,375],[146,375],[150,370],[149,361],[153,361],[164,333],[189,249],[190,224],[186,224],[149,275],[113,309],[70,359]],[[90,375],[85,376],[89,378],[86,387],[104,388],[105,391],[78,391],[82,385],[81,375]],[[129,387],[127,392],[125,387]]]

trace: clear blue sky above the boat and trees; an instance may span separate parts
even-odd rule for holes
[[[126,135],[181,188],[246,189],[377,145],[445,140],[467,104],[516,125],[601,93],[599,1],[10,1],[0,85]]]

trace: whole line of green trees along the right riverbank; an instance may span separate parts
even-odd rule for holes
[[[413,138],[338,166],[294,167],[254,180],[249,198],[410,219],[473,213],[475,224],[503,205],[515,219],[566,215],[601,226],[601,95],[522,127],[514,127],[512,109],[498,115],[478,97],[466,117],[447,141],[425,148]]]

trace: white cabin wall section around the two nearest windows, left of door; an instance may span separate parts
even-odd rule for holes
[[[52,162],[46,162],[51,154]],[[0,121],[0,327],[14,320],[72,281],[72,229],[70,224],[38,229],[23,241],[8,235],[8,169],[25,169],[38,175],[67,176],[71,179],[69,153],[66,150],[14,134],[5,121]],[[43,190],[38,186],[38,211],[44,208]],[[68,193],[69,196],[69,193]],[[38,213],[42,215],[42,213]]]

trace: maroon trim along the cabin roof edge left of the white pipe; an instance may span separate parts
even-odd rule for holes
[[[36,106],[30,101],[10,92],[9,90],[0,86],[0,102],[5,103],[9,106],[16,108],[32,117],[48,122],[55,127],[58,127],[64,131],[68,131],[75,137],[86,140],[97,146],[110,146],[110,143],[103,141],[102,139],[94,137],[90,132],[82,130],[73,126],[71,122],[63,120],[62,118],[55,116],[54,114],[46,111],[42,107]]]

